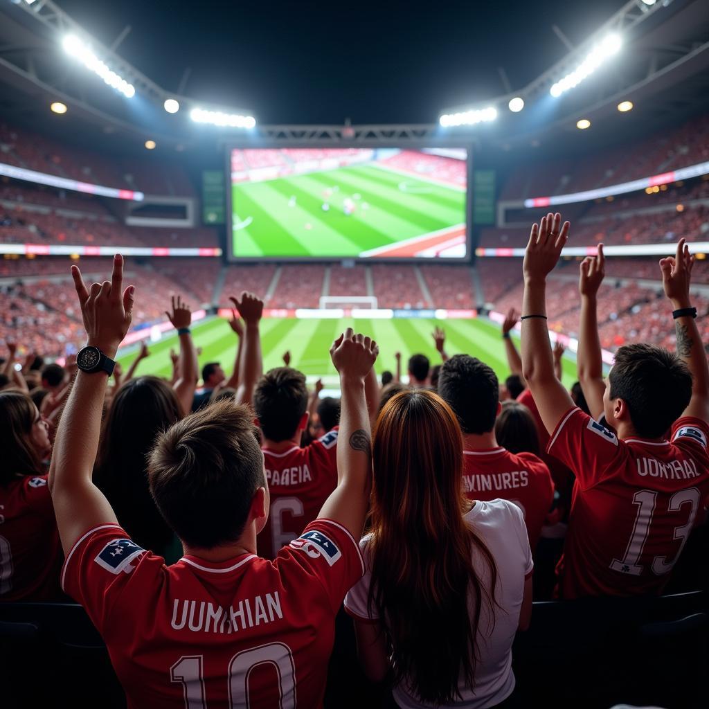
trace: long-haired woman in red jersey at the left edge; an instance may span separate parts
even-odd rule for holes
[[[26,393],[0,392],[0,601],[57,601],[62,547],[47,485],[49,426]]]

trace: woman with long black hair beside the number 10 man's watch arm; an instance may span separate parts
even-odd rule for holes
[[[136,544],[172,564],[182,547],[160,515],[147,484],[147,454],[159,433],[182,418],[167,381],[138,376],[113,398],[101,432],[94,481]]]

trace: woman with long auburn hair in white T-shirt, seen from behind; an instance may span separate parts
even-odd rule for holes
[[[457,419],[436,393],[394,396],[373,441],[367,573],[345,600],[364,671],[401,707],[493,707],[512,693],[532,556],[513,503],[467,501]]]

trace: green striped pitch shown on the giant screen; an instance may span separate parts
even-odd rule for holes
[[[465,201],[465,191],[372,164],[233,184],[233,253],[367,255],[464,225]]]

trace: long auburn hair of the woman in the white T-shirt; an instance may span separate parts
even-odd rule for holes
[[[481,608],[493,615],[497,583],[492,554],[463,519],[462,434],[440,396],[415,389],[386,404],[373,447],[369,605],[386,618],[394,681],[406,679],[425,702],[452,703],[461,673],[474,686]],[[489,566],[490,588],[473,549]]]

